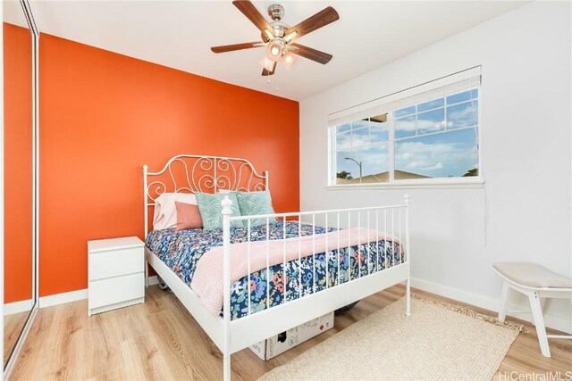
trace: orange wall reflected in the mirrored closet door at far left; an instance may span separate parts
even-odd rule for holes
[[[32,297],[32,66],[28,29],[4,27],[4,302]]]

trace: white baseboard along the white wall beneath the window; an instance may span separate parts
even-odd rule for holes
[[[438,294],[446,298],[454,299],[459,302],[466,302],[473,304],[476,307],[484,308],[490,311],[499,311],[501,307],[501,299],[492,299],[483,295],[468,293],[467,291],[459,290],[450,286],[442,286],[433,282],[428,282],[423,279],[415,277],[411,278],[411,286],[432,294]],[[509,303],[509,310],[529,311],[528,305],[517,305]],[[523,319],[532,322],[532,314],[527,313],[509,313],[509,316],[517,319]],[[572,321],[545,313],[544,325],[546,327],[557,329],[568,334],[572,334]]]

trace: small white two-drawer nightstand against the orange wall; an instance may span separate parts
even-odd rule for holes
[[[145,301],[144,245],[136,236],[88,241],[88,316]]]

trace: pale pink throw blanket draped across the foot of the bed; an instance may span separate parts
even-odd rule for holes
[[[336,250],[338,236],[340,248],[381,240],[399,244],[394,237],[366,228],[336,230],[326,234],[286,240],[250,242],[250,272],[266,268],[266,247],[268,247],[268,266],[273,266],[284,262],[284,253],[288,262],[297,260],[299,253],[304,258],[314,253]],[[219,315],[223,310],[223,250],[223,246],[217,246],[205,253],[198,261],[195,275],[190,283],[190,287],[205,304],[206,310],[213,315]],[[231,285],[246,276],[248,276],[248,243],[231,244]]]

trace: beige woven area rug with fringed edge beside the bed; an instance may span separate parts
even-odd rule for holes
[[[490,380],[522,327],[436,304],[401,298],[259,380]]]

